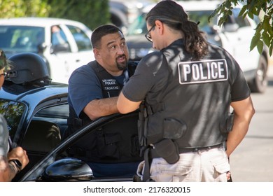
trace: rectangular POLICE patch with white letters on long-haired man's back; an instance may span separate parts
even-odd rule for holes
[[[228,80],[228,65],[225,59],[180,62],[179,83],[211,83]]]

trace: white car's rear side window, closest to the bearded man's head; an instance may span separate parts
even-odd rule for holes
[[[78,45],[78,51],[92,50],[90,38],[85,34],[82,29],[71,25],[67,25],[67,27],[71,31],[71,34],[73,35],[73,38]]]

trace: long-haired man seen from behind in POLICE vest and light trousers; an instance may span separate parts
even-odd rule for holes
[[[140,106],[146,161],[139,176],[144,181],[227,181],[228,158],[255,113],[239,64],[208,43],[175,1],[153,7],[146,26],[146,38],[160,51],[141,59],[117,104],[120,113]]]

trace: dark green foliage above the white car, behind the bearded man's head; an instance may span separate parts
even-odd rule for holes
[[[110,21],[108,0],[48,0],[49,16],[83,22],[90,29]]]

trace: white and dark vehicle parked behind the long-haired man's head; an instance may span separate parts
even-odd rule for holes
[[[249,52],[251,39],[255,33],[255,22],[249,18],[239,17],[240,8],[234,8],[233,14],[223,27],[218,27],[219,18],[208,18],[218,7],[221,1],[177,1],[189,15],[190,20],[200,22],[199,27],[207,34],[209,42],[221,45],[235,57],[252,92],[264,92],[267,87],[267,67],[269,53],[264,48],[260,55],[254,48]],[[145,16],[155,4],[146,6],[143,13],[132,23],[127,31],[127,45],[130,50],[130,59],[140,60],[149,52],[153,52],[152,43],[146,40]]]

